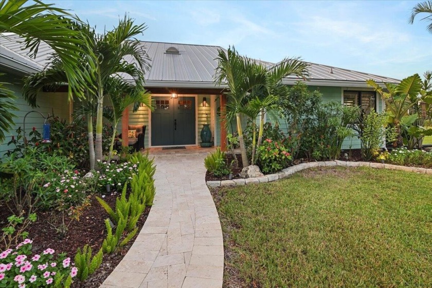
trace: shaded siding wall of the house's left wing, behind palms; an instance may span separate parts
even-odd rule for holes
[[[52,115],[54,113],[55,116],[59,116],[62,119],[66,119],[69,121],[69,103],[67,100],[67,93],[41,93],[38,97],[38,105],[36,109],[32,109],[24,99],[22,95],[22,86],[23,83],[21,78],[18,76],[2,76],[2,82],[13,83],[13,85],[8,85],[13,92],[15,92],[16,100],[15,104],[20,109],[19,111],[14,111],[16,117],[14,117],[15,125],[12,126],[12,129],[6,132],[6,139],[3,143],[0,143],[0,157],[4,155],[10,149],[14,147],[7,145],[7,143],[12,139],[12,135],[16,136],[15,130],[18,127],[23,127],[24,116],[27,112],[32,110],[37,110],[43,113],[45,116]],[[26,136],[28,137],[28,133],[35,127],[39,132],[42,133],[42,127],[44,123],[44,118],[39,113],[30,113],[26,117]]]

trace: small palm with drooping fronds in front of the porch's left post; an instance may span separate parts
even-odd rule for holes
[[[117,125],[120,121],[123,111],[134,104],[133,111],[136,112],[140,104],[145,104],[153,111],[151,93],[145,89],[137,89],[137,87],[120,77],[113,77],[108,81],[105,88],[106,94],[110,97],[112,107],[104,107],[104,116],[113,124],[113,135],[111,137],[110,152],[108,159],[113,156],[114,140],[116,137]],[[123,140],[127,140],[125,135]]]

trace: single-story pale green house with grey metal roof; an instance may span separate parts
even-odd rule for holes
[[[145,106],[133,113],[124,113],[119,131],[128,130],[128,124],[147,125],[145,136],[146,147],[199,146],[200,132],[203,124],[210,124],[215,146],[225,146],[227,131],[220,121],[221,106],[226,104],[223,88],[215,85],[214,75],[218,61],[219,46],[191,45],[178,43],[141,42],[151,59],[151,67],[145,71],[146,88],[152,93],[156,109],[150,112]],[[16,112],[16,127],[23,125],[26,112],[32,110],[21,94],[22,77],[26,74],[41,71],[48,63],[51,49],[41,44],[38,55],[30,58],[23,50],[20,37],[14,34],[0,34],[0,70],[7,73],[2,82],[13,83],[16,92],[19,112]],[[270,66],[274,63],[263,62]],[[340,101],[347,105],[361,105],[365,110],[381,112],[384,101],[376,95],[365,80],[373,79],[377,83],[399,80],[328,65],[309,63],[310,77],[305,83],[311,89],[319,89],[324,101]],[[283,80],[292,85],[299,79],[288,77]],[[67,101],[66,92],[44,92],[38,98],[38,111],[54,113],[70,120],[74,103]],[[39,114],[30,114],[26,127],[42,127],[44,119]],[[280,121],[282,129],[286,129]],[[0,146],[0,155],[7,151],[7,142],[14,134],[9,131],[7,139]],[[359,148],[359,140],[346,140],[344,148]]]

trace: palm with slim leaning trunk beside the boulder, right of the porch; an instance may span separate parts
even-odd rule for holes
[[[237,121],[242,163],[243,167],[247,167],[249,161],[243,139],[242,110],[247,103],[251,89],[265,83],[265,74],[256,73],[259,67],[251,59],[240,56],[234,47],[229,47],[226,52],[220,49],[217,60],[219,62],[216,70],[217,84],[226,83],[228,86],[225,94],[229,97],[229,101],[224,116],[227,124],[234,119]]]

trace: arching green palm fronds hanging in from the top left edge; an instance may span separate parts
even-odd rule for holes
[[[25,38],[25,47],[30,55],[35,56],[41,41],[47,43],[65,63],[65,75],[69,85],[69,99],[72,92],[78,97],[83,96],[86,88],[83,79],[88,75],[81,74],[77,69],[82,43],[86,41],[82,33],[74,28],[69,16],[63,9],[43,4],[36,0],[28,5],[27,0],[0,1],[0,33],[13,32]],[[1,74],[2,76],[4,74]],[[0,142],[14,123],[12,111],[18,108],[13,104],[14,94],[5,88],[7,83],[0,84]]]

